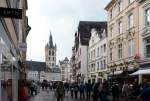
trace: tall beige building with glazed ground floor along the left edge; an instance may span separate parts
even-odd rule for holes
[[[8,100],[8,90],[12,101],[18,101],[18,80],[26,77],[26,37],[30,30],[26,16],[27,0],[0,0],[0,7],[21,9],[22,18],[1,17],[0,19],[0,101]],[[28,29],[29,28],[29,29]],[[19,44],[20,43],[20,44]],[[10,87],[7,84],[11,84]]]

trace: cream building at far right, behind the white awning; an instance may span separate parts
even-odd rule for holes
[[[137,0],[139,3],[139,83],[150,81],[150,0]],[[145,73],[147,72],[147,73]]]

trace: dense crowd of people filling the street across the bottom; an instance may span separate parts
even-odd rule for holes
[[[57,101],[64,101],[65,96],[81,101],[150,101],[150,87],[148,83],[138,82],[109,83],[98,79],[97,82],[20,82],[20,101],[27,101],[29,96],[35,96],[42,88],[43,91],[55,92]]]

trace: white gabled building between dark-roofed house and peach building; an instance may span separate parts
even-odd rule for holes
[[[99,29],[91,29],[88,47],[88,73],[93,82],[107,79],[107,22],[100,22]]]

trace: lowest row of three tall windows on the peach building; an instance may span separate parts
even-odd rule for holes
[[[117,51],[117,53],[118,53],[118,59],[121,59],[121,58],[123,58],[123,44],[121,43],[121,44],[118,44],[118,46],[117,46],[118,48],[118,51]],[[134,55],[134,40],[133,39],[130,39],[129,41],[128,41],[128,56],[129,57],[131,57],[131,56],[133,56]],[[113,52],[116,52],[116,51],[113,51],[113,48],[110,48],[109,49],[110,51],[109,51],[109,57],[110,57],[110,61],[112,61],[113,60]],[[116,49],[115,49],[116,50]]]

